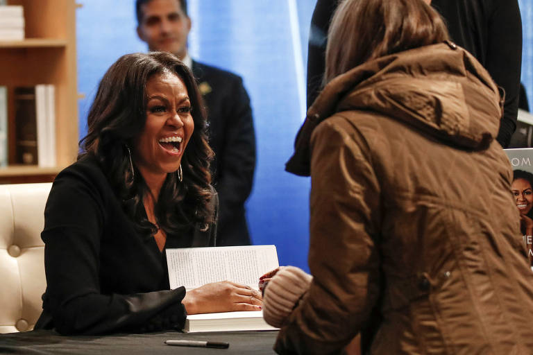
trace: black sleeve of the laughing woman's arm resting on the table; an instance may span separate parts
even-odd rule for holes
[[[107,334],[183,329],[183,287],[131,295],[101,293],[99,275],[106,272],[99,263],[103,204],[94,185],[68,174],[56,179],[46,202],[42,232],[46,311],[56,331]]]

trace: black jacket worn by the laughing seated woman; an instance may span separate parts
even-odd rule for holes
[[[212,246],[214,230],[167,235],[165,248]],[[135,230],[94,158],[57,176],[41,237],[47,286],[35,329],[106,334],[183,328],[185,288],[169,291],[166,253],[153,236]]]

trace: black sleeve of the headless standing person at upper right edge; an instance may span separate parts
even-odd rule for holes
[[[494,81],[505,89],[504,113],[496,139],[507,148],[518,115],[522,20],[518,0],[497,0],[496,4],[489,19],[486,67]]]

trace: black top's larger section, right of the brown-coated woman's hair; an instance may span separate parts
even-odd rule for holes
[[[516,129],[522,65],[522,21],[518,0],[432,0],[448,24],[452,40],[472,53],[505,89],[496,138],[509,146]]]

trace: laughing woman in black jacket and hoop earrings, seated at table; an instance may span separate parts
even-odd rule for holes
[[[215,245],[202,107],[174,55],[124,55],[105,73],[83,153],[46,202],[47,287],[36,329],[181,329],[187,313],[260,309],[260,295],[244,285],[169,290],[165,248]]]

